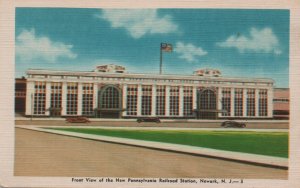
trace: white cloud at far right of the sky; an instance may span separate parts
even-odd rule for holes
[[[282,51],[279,48],[279,41],[271,28],[251,28],[249,36],[231,35],[224,42],[217,43],[224,48],[237,48],[239,52],[262,52],[279,55]]]

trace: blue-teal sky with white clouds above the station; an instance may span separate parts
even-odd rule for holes
[[[289,11],[237,9],[16,9],[16,77],[33,69],[272,78],[288,87]]]

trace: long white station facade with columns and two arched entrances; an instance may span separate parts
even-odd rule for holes
[[[28,70],[27,116],[96,118],[272,118],[273,80],[194,74],[133,74],[102,65],[93,71]]]

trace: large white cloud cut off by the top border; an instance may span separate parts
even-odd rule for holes
[[[124,28],[138,39],[147,34],[178,32],[171,16],[159,16],[155,9],[104,9],[98,18],[110,22],[112,28]]]

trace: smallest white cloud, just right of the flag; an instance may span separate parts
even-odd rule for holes
[[[197,56],[200,57],[207,54],[201,47],[194,46],[191,43],[184,44],[183,42],[177,42],[174,51],[179,54],[179,58],[188,62],[196,62]]]

